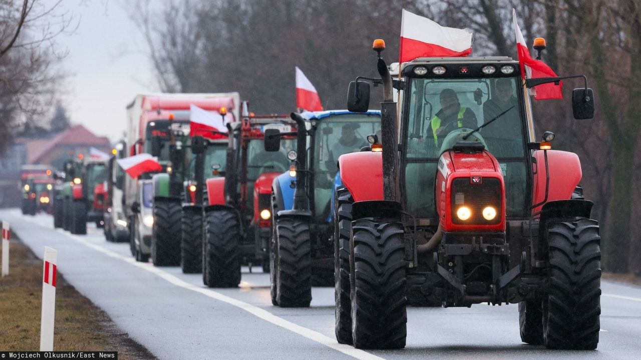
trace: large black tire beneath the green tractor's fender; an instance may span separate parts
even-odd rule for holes
[[[155,266],[180,265],[182,208],[179,202],[154,200],[151,228],[151,259]]]

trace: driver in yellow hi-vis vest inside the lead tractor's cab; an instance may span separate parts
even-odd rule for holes
[[[440,92],[441,110],[430,120],[434,145],[438,147],[440,140],[445,138],[454,129],[465,127],[476,129],[476,115],[470,108],[461,106],[458,95],[451,88],[445,88]]]

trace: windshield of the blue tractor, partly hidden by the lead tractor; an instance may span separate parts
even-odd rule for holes
[[[320,121],[314,146],[314,203],[315,214],[325,218],[329,214],[334,177],[338,171],[338,156],[360,151],[369,146],[367,135],[381,136],[380,115],[331,115]]]

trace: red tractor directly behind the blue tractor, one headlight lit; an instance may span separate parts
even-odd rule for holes
[[[265,150],[267,129],[279,130],[280,151]],[[290,167],[296,123],[285,115],[248,114],[229,124],[228,136],[226,164],[212,164],[213,175],[224,177],[206,180],[203,282],[215,288],[238,286],[242,263],[269,272],[272,182]]]

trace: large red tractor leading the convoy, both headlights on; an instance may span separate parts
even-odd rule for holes
[[[596,348],[599,224],[578,156],[551,150],[553,133],[536,141],[528,95],[585,76],[523,81],[506,57],[388,67],[384,47],[374,42],[381,78],[369,79],[383,85],[381,135],[368,137],[382,152],[338,159],[338,342],[403,348],[408,298],[422,297],[444,307],[519,304],[522,341]],[[368,106],[369,83],[357,78],[347,107]],[[587,79],[572,108],[592,118]]]

